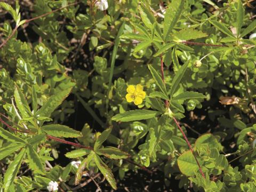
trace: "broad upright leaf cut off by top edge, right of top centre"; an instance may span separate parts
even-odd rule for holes
[[[175,0],[168,5],[164,15],[164,40],[166,40],[167,36],[171,33],[175,24],[179,20],[184,3],[185,1],[183,0]]]

